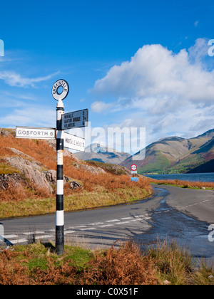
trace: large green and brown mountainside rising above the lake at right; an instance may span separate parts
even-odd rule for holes
[[[167,137],[146,147],[146,157],[140,161],[129,157],[121,165],[129,168],[133,162],[138,172],[185,173],[214,158],[214,130],[189,139]]]

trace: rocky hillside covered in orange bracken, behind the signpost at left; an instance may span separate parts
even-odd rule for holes
[[[110,206],[152,193],[125,167],[88,163],[64,150],[64,211]],[[16,139],[0,129],[0,219],[56,212],[56,142]]]

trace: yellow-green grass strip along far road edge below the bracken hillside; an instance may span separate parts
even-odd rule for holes
[[[64,197],[64,211],[78,211],[93,209],[101,206],[131,203],[151,195],[152,189],[146,191],[140,187],[126,187],[109,191],[97,186],[92,192],[83,190]],[[21,201],[0,201],[0,219],[54,214],[56,212],[56,198],[23,199]]]

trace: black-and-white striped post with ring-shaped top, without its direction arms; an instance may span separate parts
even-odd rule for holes
[[[62,88],[61,93],[58,92]],[[64,253],[64,211],[63,211],[63,130],[62,115],[64,105],[62,100],[68,95],[68,83],[58,80],[52,88],[52,95],[58,100],[56,105],[56,253]]]

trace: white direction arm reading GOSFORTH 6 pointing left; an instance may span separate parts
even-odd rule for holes
[[[56,139],[56,129],[51,127],[16,127],[16,138]]]

